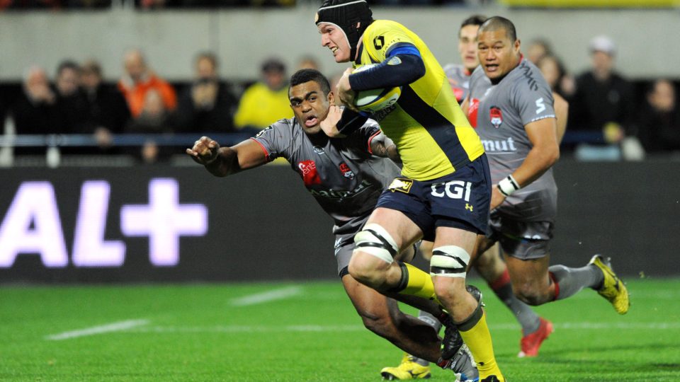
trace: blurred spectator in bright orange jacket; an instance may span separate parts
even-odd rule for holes
[[[132,117],[138,117],[144,108],[147,92],[154,89],[167,110],[175,110],[177,96],[174,88],[149,69],[140,50],[129,50],[124,59],[125,75],[118,81],[118,89],[128,101]]]

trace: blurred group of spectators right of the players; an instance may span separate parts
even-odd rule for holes
[[[642,86],[616,71],[617,47],[608,36],[588,45],[590,67],[572,75],[548,42],[523,50],[553,88],[570,103],[563,144],[584,160],[640,160],[646,154],[680,151],[680,113],[676,84],[655,79]],[[579,134],[579,133],[585,134]]]

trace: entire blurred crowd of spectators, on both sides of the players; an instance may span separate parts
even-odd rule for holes
[[[641,85],[625,79],[616,71],[617,47],[609,37],[594,37],[588,49],[590,68],[574,75],[548,42],[537,40],[522,48],[553,91],[570,102],[562,150],[583,160],[680,153],[676,84],[657,79]],[[115,83],[103,81],[101,65],[94,60],[64,60],[52,79],[45,68],[30,66],[21,88],[0,99],[0,117],[10,119],[15,134],[91,134],[98,143],[64,147],[64,154],[131,154],[145,163],[169,158],[177,148],[154,139],[139,147],[114,147],[113,134],[256,134],[273,121],[293,117],[287,88],[292,71],[280,59],[261,62],[260,78],[240,84],[220,78],[220,63],[212,52],[196,55],[193,79],[183,84],[162,79],[140,50],[125,52],[122,65],[123,76]],[[302,68],[319,65],[301,57],[294,69]],[[16,147],[14,153],[45,154],[45,148]]]

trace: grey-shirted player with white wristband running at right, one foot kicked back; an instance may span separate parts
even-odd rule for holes
[[[465,106],[496,185],[491,232],[480,243],[480,253],[500,243],[514,292],[530,305],[566,299],[590,287],[618,313],[626,313],[628,291],[604,257],[595,255],[581,268],[549,267],[557,212],[551,168],[560,156],[553,94],[536,66],[521,56],[511,21],[489,18],[477,42],[482,67],[472,74]]]

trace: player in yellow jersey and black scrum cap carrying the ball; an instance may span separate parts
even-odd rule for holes
[[[356,91],[402,86],[397,103],[373,115],[397,145],[402,176],[382,193],[356,234],[349,273],[378,291],[440,301],[470,348],[480,381],[505,381],[485,312],[465,289],[477,234],[487,231],[489,166],[441,65],[403,25],[374,21],[365,0],[326,0],[315,23],[336,62],[378,63],[356,74],[344,72],[337,91],[346,110],[339,120],[327,118],[324,132],[337,136],[361,126],[366,116],[353,107]],[[421,238],[434,242],[431,277],[394,259]]]

